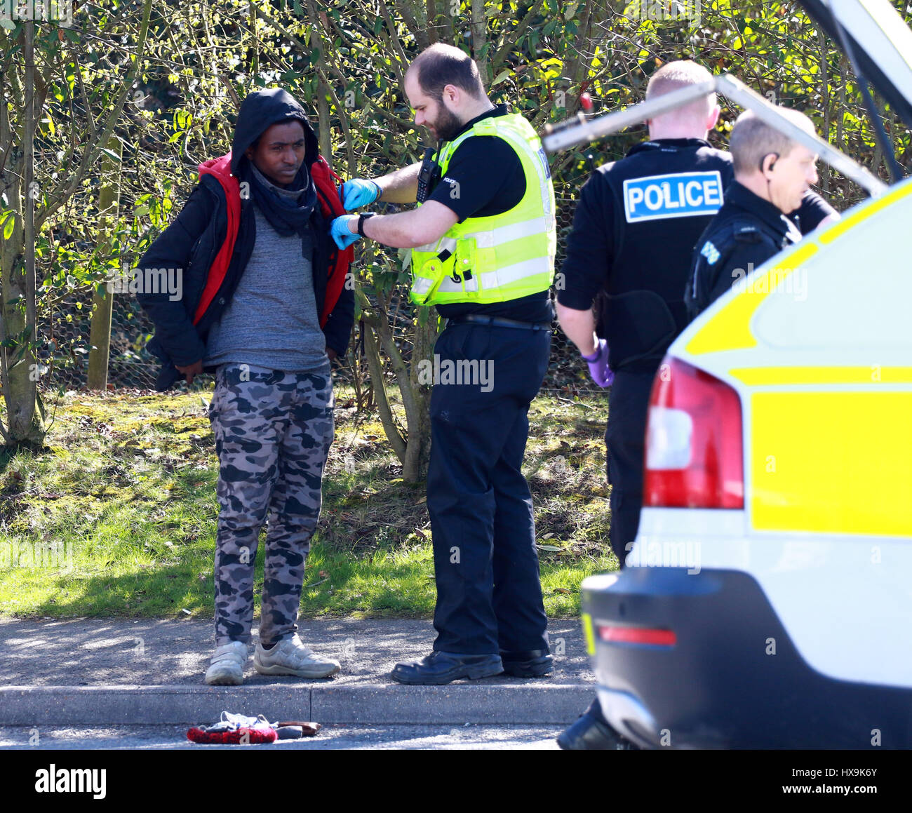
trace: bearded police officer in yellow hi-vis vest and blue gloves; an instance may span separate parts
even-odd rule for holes
[[[438,635],[430,655],[397,664],[392,676],[408,684],[537,677],[552,656],[522,465],[551,342],[551,173],[534,129],[492,104],[459,48],[423,51],[405,92],[415,123],[437,139],[436,154],[376,180],[347,181],[344,201],[348,210],[378,198],[419,207],[347,215],[332,226],[340,247],[364,236],[410,248],[412,300],[447,319],[430,400]]]

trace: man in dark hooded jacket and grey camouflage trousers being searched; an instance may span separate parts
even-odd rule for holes
[[[251,93],[232,152],[201,165],[200,183],[139,264],[181,270],[180,301],[138,293],[156,327],[149,347],[163,362],[158,388],[215,373],[220,513],[207,684],[244,680],[267,515],[254,667],[307,678],[339,669],[301,642],[295,623],[334,433],[330,359],[345,353],[354,314],[350,287],[333,276],[341,266],[320,209],[317,161],[316,135],[295,98],[280,88]]]

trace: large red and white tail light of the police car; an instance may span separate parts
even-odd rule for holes
[[[644,506],[744,508],[741,399],[670,356],[649,397],[643,488]]]

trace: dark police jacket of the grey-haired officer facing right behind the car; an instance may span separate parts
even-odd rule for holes
[[[694,249],[685,292],[691,319],[754,268],[801,240],[794,222],[737,180],[725,190],[725,205]]]

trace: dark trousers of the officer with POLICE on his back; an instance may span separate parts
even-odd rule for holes
[[[646,417],[655,374],[618,370],[608,399],[605,431],[608,483],[611,485],[611,548],[624,567],[639,527],[643,505]]]

